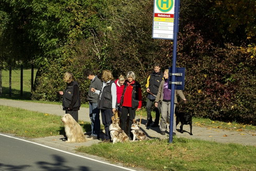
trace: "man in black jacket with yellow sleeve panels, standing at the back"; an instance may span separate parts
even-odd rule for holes
[[[159,64],[154,65],[154,71],[148,76],[147,78],[147,123],[146,126],[150,126],[152,124],[152,107],[154,107],[154,101],[156,99],[156,95],[158,92],[158,88],[160,86],[160,83],[164,77],[164,74],[160,71],[160,66]],[[156,119],[154,121],[154,124],[152,127],[158,127],[159,125],[159,118],[160,118],[160,108],[159,106],[155,108],[156,112]]]

